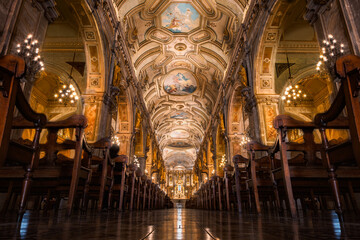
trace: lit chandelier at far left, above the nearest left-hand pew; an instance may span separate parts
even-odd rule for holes
[[[39,54],[39,42],[33,39],[32,34],[29,34],[22,43],[16,45],[16,54],[24,59],[28,69],[28,77],[33,77],[38,71],[45,70]]]

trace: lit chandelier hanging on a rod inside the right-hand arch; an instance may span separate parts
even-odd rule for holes
[[[307,95],[301,89],[301,86],[299,84],[293,84],[293,78],[291,76],[291,70],[290,70],[289,57],[288,57],[287,53],[286,53],[286,61],[287,61],[288,70],[289,70],[288,81],[289,81],[290,85],[285,88],[285,92],[281,96],[281,99],[287,104],[295,104],[296,105],[297,102],[304,100],[307,97]]]

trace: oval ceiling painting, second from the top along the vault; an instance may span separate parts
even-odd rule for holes
[[[164,90],[171,95],[188,95],[195,92],[196,88],[196,80],[189,71],[172,71],[165,77],[164,80]]]

